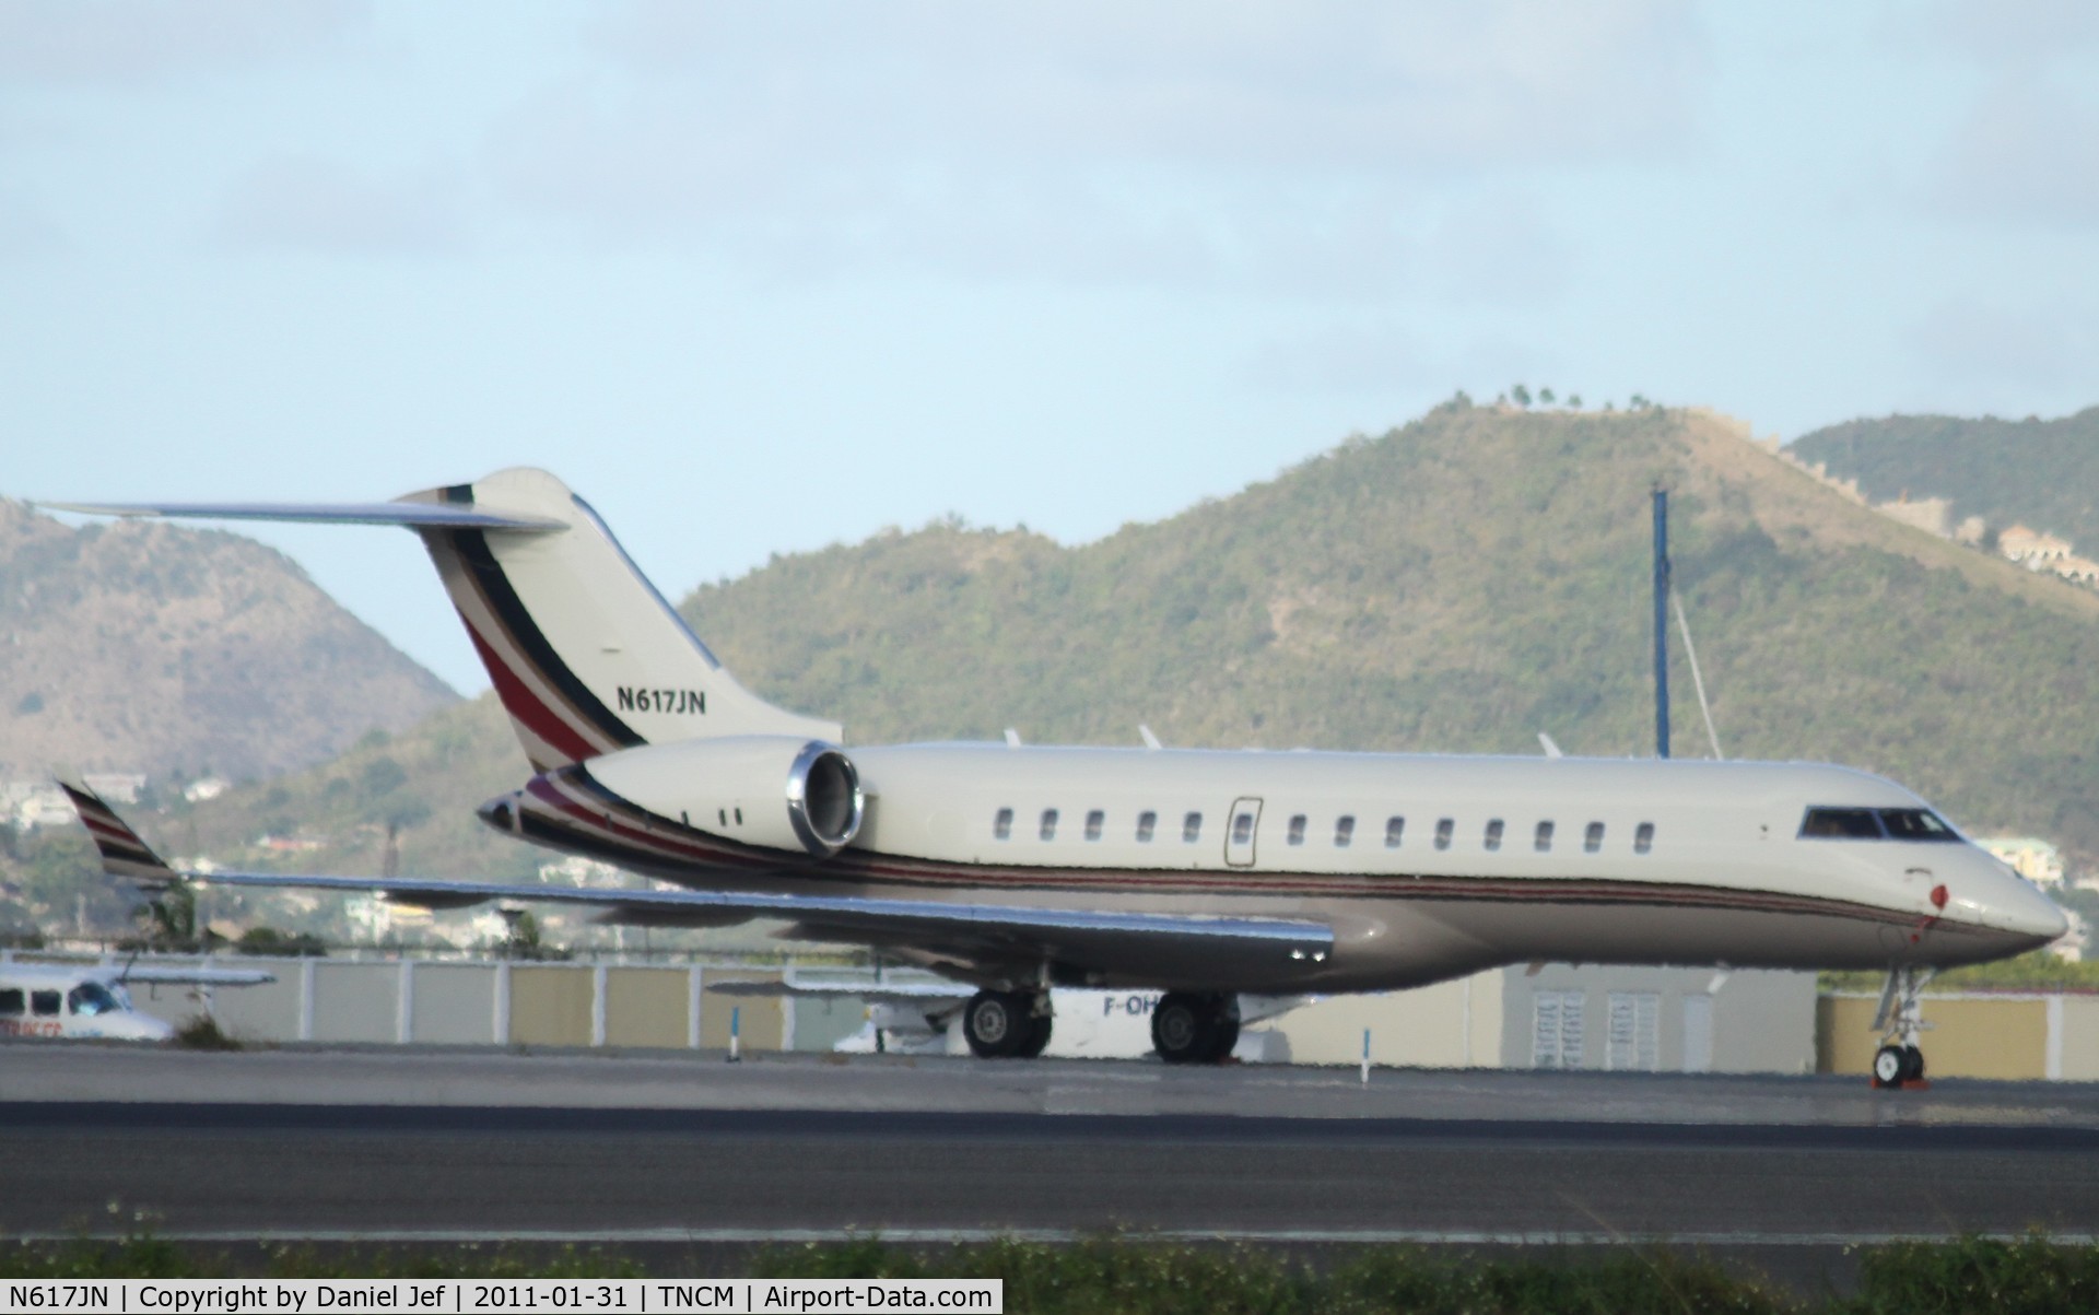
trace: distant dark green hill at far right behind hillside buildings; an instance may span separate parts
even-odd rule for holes
[[[1858,480],[1872,501],[1944,497],[1956,520],[2023,522],[2086,556],[2099,549],[2099,407],[2061,419],[1853,419],[1799,438],[1793,453]]]

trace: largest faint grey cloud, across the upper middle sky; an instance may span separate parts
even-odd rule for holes
[[[632,4],[491,132],[497,187],[772,273],[1394,287],[1415,195],[1681,149],[1683,4]]]

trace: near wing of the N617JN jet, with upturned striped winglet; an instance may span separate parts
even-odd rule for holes
[[[1144,977],[1228,982],[1285,961],[1324,958],[1333,927],[1295,919],[1230,919],[1169,912],[1031,908],[1024,904],[949,904],[865,896],[783,896],[770,891],[584,889],[432,881],[409,877],[298,877],[279,872],[178,872],[170,868],[94,791],[59,782],[103,858],[103,870],[145,885],[197,881],[235,887],[374,893],[403,904],[462,908],[485,900],[598,908],[600,921],[642,927],[720,925],[785,919],[789,935],[909,946],[963,963],[1031,965],[1056,958]]]

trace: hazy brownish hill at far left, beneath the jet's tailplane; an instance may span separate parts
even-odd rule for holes
[[[0,778],[260,778],[458,700],[283,554],[0,499]]]

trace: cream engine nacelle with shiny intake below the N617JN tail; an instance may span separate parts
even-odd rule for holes
[[[659,818],[768,849],[829,858],[861,833],[861,772],[838,745],[728,736],[621,749],[581,763]]]

